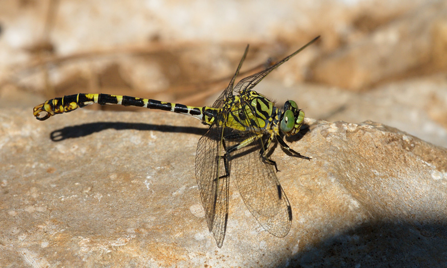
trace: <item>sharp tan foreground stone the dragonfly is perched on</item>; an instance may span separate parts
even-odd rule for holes
[[[288,236],[231,183],[218,249],[194,178],[199,121],[0,109],[0,267],[445,267],[447,149],[373,122],[306,124],[288,142],[311,161],[272,153]]]

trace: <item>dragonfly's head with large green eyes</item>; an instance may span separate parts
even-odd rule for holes
[[[286,101],[284,104],[284,112],[281,114],[281,131],[288,136],[297,134],[303,120],[304,112],[298,109],[297,103],[295,101]]]

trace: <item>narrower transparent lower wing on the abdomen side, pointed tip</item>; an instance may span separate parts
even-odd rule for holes
[[[223,116],[223,115],[221,115]],[[228,218],[228,183],[225,175],[224,150],[222,148],[223,128],[214,124],[197,144],[196,179],[208,229],[213,232],[219,248],[222,247]]]

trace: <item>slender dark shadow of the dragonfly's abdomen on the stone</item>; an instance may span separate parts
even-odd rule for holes
[[[114,129],[118,131],[139,130],[139,131],[189,133],[197,135],[203,135],[207,131],[206,129],[196,127],[176,127],[176,126],[152,125],[144,123],[95,122],[55,130],[50,134],[50,138],[53,141],[61,141],[67,138],[78,138],[88,136],[90,134],[101,132],[103,130],[108,129]]]

